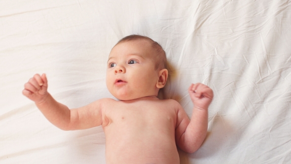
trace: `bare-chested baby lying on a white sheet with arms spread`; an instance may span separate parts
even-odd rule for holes
[[[107,63],[106,84],[119,101],[103,98],[69,110],[47,92],[45,74],[25,83],[23,94],[63,130],[102,125],[107,164],[179,164],[177,146],[193,153],[206,137],[213,91],[202,83],[190,85],[194,105],[190,121],[177,101],[157,98],[167,78],[162,47],[147,37],[131,35],[111,49]]]

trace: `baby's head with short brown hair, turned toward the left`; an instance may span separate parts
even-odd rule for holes
[[[106,84],[120,100],[157,96],[168,78],[166,54],[148,37],[127,36],[111,49]]]

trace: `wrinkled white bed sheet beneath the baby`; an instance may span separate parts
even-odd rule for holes
[[[208,136],[181,164],[291,163],[290,0],[0,0],[0,164],[105,164],[101,127],[62,131],[21,92],[46,73],[70,108],[113,98],[109,51],[131,34],[163,46],[163,96],[189,116],[190,83],[214,90]]]

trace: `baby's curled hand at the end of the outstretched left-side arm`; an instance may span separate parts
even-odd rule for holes
[[[36,74],[27,83],[25,83],[22,94],[33,100],[36,104],[41,103],[48,94],[47,79],[45,74],[42,74],[41,77]]]

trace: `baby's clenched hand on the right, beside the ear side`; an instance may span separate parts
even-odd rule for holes
[[[194,107],[207,110],[213,98],[213,91],[207,85],[202,83],[191,84],[188,89]]]

